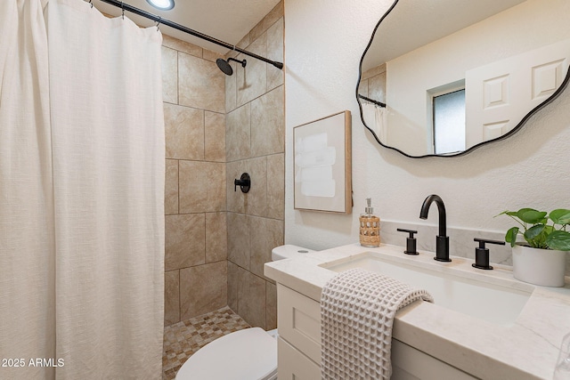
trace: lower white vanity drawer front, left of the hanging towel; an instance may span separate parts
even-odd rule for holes
[[[277,370],[279,380],[314,380],[321,378],[321,367],[281,339],[281,336],[277,339],[277,362],[279,363]]]

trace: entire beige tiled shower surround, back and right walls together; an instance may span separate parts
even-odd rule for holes
[[[281,2],[238,46],[283,61],[283,27]],[[276,290],[263,264],[283,244],[283,73],[245,57],[226,77],[216,58],[164,36],[165,325],[227,304],[269,329]],[[248,194],[233,191],[243,172]]]

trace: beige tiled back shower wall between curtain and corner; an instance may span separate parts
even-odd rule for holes
[[[218,57],[163,36],[166,326],[227,304],[225,76]]]

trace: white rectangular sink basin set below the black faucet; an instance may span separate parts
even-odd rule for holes
[[[381,273],[428,290],[439,306],[501,325],[509,325],[517,319],[533,290],[533,287],[523,291],[485,282],[483,276],[482,279],[471,279],[461,276],[460,271],[430,270],[425,267],[433,265],[425,263],[421,267],[396,263],[374,252],[364,252],[321,266],[336,272],[362,268]],[[476,274],[469,277],[476,277]]]

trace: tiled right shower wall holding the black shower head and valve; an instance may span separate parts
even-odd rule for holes
[[[283,61],[283,2],[251,29],[239,47]],[[234,55],[231,55],[234,56]],[[273,247],[284,236],[283,72],[263,61],[232,62],[225,77],[228,228],[228,305],[251,326],[277,327],[276,287],[264,276]],[[234,191],[233,180],[251,176],[251,190]]]

